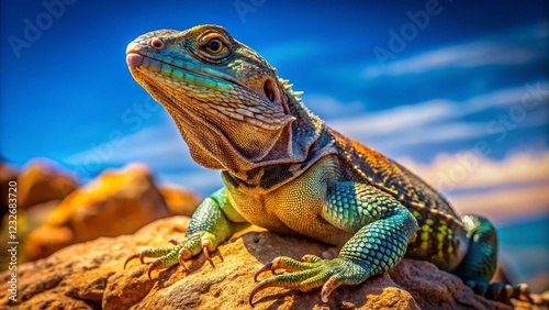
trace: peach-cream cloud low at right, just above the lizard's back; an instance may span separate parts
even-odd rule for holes
[[[505,221],[549,213],[549,152],[515,153],[502,160],[463,152],[440,154],[429,164],[399,162],[448,195],[461,214]]]

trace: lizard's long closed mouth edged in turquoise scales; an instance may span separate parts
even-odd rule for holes
[[[147,71],[161,75],[165,79],[188,86],[203,87],[222,92],[233,90],[234,86],[248,90],[246,85],[231,76],[208,68],[199,68],[195,65],[184,64],[183,62],[175,64],[165,59],[130,52],[126,55],[126,63],[132,70],[144,68]]]

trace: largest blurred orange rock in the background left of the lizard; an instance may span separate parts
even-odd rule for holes
[[[121,171],[105,171],[71,192],[30,234],[25,252],[30,261],[46,257],[70,244],[133,233],[168,215],[148,169],[130,165]]]

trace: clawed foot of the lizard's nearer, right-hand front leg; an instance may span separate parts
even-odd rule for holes
[[[309,291],[321,287],[323,302],[328,302],[328,296],[341,285],[356,285],[369,276],[369,270],[350,259],[323,259],[314,255],[305,255],[300,261],[280,256],[261,267],[254,279],[266,272],[274,276],[257,284],[250,292],[249,305],[254,306],[254,296],[268,287],[284,287]]]

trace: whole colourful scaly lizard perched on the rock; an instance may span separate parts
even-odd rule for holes
[[[192,217],[175,247],[147,250],[150,272],[215,251],[237,223],[306,235],[343,246],[339,256],[276,257],[258,274],[267,287],[358,285],[403,257],[455,272],[484,294],[495,270],[497,239],[479,217],[460,220],[437,191],[404,167],[326,126],[301,92],[223,27],[200,25],[144,34],[127,46],[132,76],[170,113],[200,165],[220,169],[225,186]],[[412,117],[412,115],[411,115]],[[127,262],[126,262],[127,263]],[[508,287],[507,287],[508,288]],[[505,298],[502,285],[489,294]]]

